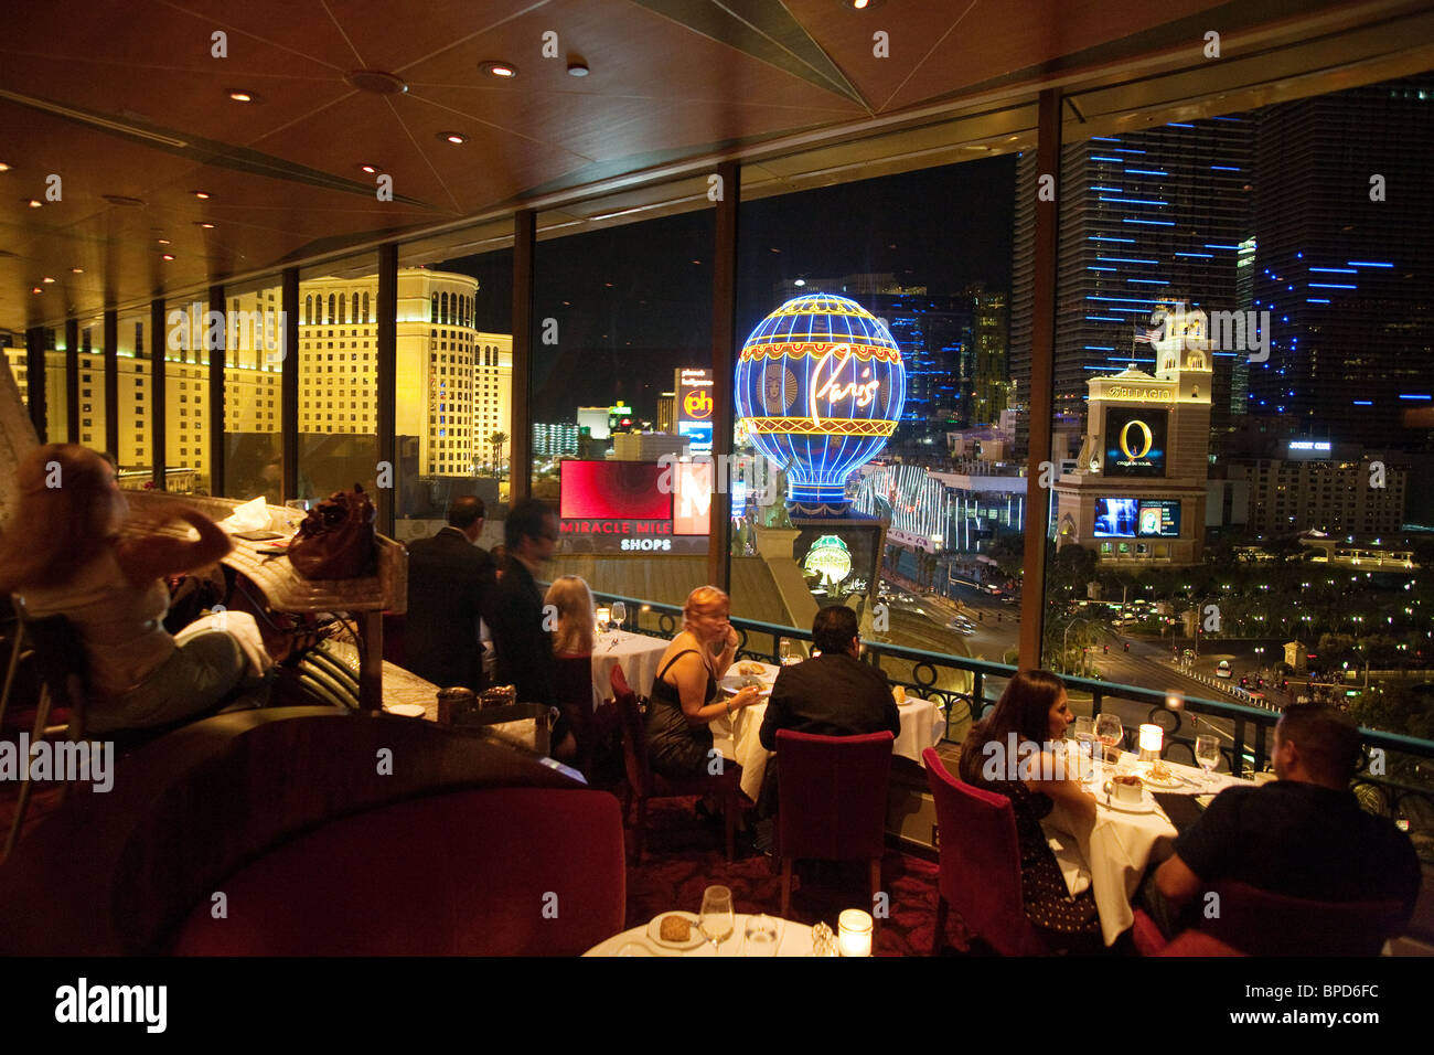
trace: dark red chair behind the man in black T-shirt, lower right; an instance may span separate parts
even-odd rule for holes
[[[1378,956],[1407,922],[1398,901],[1312,901],[1245,883],[1213,890],[1219,916],[1202,917],[1170,942],[1137,911],[1136,949],[1144,956]]]

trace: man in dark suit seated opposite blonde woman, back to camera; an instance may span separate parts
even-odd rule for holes
[[[858,659],[860,637],[856,613],[845,604],[829,604],[812,623],[813,644],[820,656],[783,667],[771,686],[767,713],[757,736],[767,751],[777,749],[777,731],[792,729],[819,736],[859,736],[891,731],[901,735],[901,713],[886,676]],[[767,771],[757,797],[756,843],[771,853],[771,820],[777,812],[777,759]]]

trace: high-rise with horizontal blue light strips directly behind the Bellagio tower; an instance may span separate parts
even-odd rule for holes
[[[1055,416],[1086,419],[1091,376],[1130,363],[1150,369],[1137,324],[1159,301],[1236,310],[1236,263],[1250,235],[1253,122],[1243,116],[1094,136],[1061,151],[1057,251]],[[1035,152],[1017,162],[1011,261],[1011,380],[1021,405],[1015,446],[1025,456],[1030,418],[1031,309],[1035,263]],[[1212,366],[1212,425],[1229,421],[1235,352]],[[1212,393],[1206,390],[1206,398]],[[1223,406],[1220,400],[1225,400]],[[1087,422],[1088,426],[1088,422]]]

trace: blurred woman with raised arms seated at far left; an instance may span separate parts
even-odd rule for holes
[[[245,688],[250,660],[232,634],[206,630],[181,646],[163,629],[165,577],[224,557],[234,547],[224,531],[176,502],[156,511],[162,522],[185,521],[198,540],[120,537],[129,507],[115,469],[77,444],[32,451],[17,478],[20,500],[0,537],[0,590],[19,593],[33,619],[70,622],[87,662],[87,732],[194,718]]]

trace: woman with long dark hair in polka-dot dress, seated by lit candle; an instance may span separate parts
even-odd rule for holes
[[[1022,670],[961,746],[961,778],[1011,800],[1021,845],[1021,901],[1031,924],[1058,952],[1101,949],[1100,916],[1090,888],[1073,897],[1051,853],[1041,818],[1057,804],[1088,831],[1096,798],[1064,772],[1055,744],[1076,721],[1065,685],[1045,670]]]

